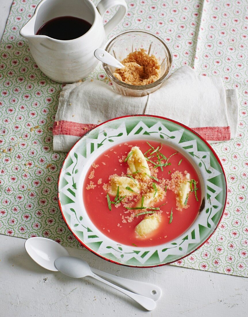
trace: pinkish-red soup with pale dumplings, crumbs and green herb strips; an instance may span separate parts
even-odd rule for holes
[[[105,236],[126,245],[156,246],[176,239],[195,221],[201,183],[176,149],[133,140],[113,146],[94,161],[85,176],[83,201],[90,220]]]

